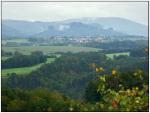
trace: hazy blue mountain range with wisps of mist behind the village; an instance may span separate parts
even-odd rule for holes
[[[3,20],[2,37],[148,36],[148,26],[124,18],[80,18],[57,22]]]

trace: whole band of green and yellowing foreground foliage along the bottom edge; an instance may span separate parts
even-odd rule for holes
[[[2,111],[148,111],[148,83],[133,86],[119,83],[119,87],[110,87],[115,84],[115,80],[124,82],[122,75],[114,71],[116,70],[112,70],[111,75],[100,76],[95,83],[90,83],[86,90],[86,100],[80,101],[43,88],[3,88]],[[140,83],[144,77],[142,73],[138,70],[130,76],[134,76]]]

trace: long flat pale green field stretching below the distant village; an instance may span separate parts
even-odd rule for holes
[[[42,51],[45,54],[56,52],[90,52],[99,51],[97,48],[90,47],[73,47],[73,46],[21,46],[21,47],[2,47],[4,51],[18,51],[22,54],[30,54],[33,51]]]

